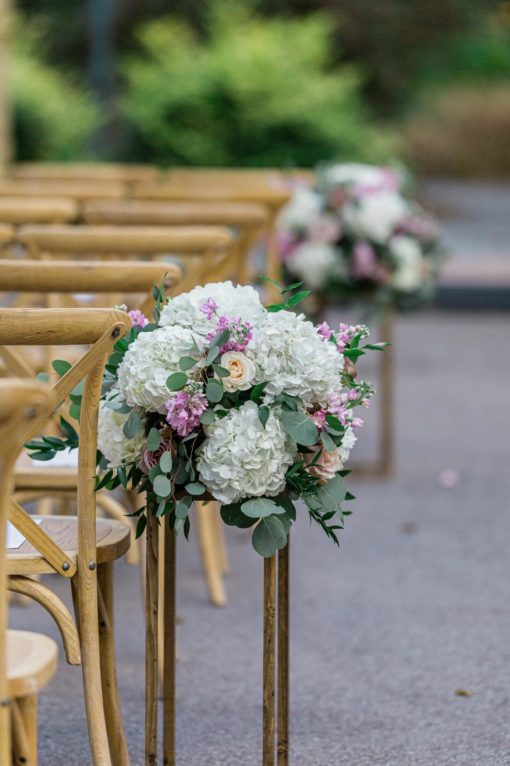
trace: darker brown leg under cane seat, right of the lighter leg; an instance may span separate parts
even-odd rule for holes
[[[97,579],[99,586],[101,685],[110,755],[115,766],[129,766],[129,753],[122,724],[122,709],[115,662],[113,562],[98,566]]]

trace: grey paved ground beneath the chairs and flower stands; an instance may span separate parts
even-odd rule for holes
[[[304,514],[294,534],[295,766],[510,764],[508,348],[508,314],[399,321],[398,473],[355,483],[340,550]],[[262,567],[244,534],[230,534],[229,548],[224,610],[205,599],[196,540],[179,549],[186,766],[260,763]],[[123,564],[117,575],[120,679],[139,766],[138,579]],[[52,630],[36,607],[16,608],[12,623]],[[40,730],[43,766],[90,763],[80,671],[63,661]]]

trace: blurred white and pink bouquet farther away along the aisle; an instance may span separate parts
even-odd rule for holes
[[[443,257],[435,221],[388,168],[340,164],[301,184],[279,220],[289,280],[323,295],[413,307],[432,295]]]

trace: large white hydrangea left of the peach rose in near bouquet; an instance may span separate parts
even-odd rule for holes
[[[166,381],[169,375],[180,372],[179,359],[195,356],[204,347],[203,337],[187,327],[175,325],[140,333],[118,370],[122,398],[131,406],[163,412],[163,405],[170,398]],[[199,368],[194,369],[198,372]]]

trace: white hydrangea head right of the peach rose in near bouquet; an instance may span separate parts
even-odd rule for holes
[[[303,314],[269,313],[249,350],[260,380],[268,381],[265,388],[268,401],[285,392],[300,397],[306,406],[325,405],[338,391],[343,357],[333,343],[320,338]]]

